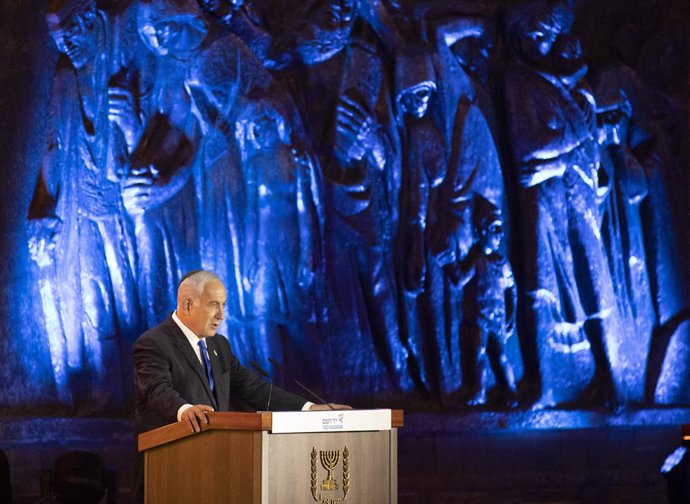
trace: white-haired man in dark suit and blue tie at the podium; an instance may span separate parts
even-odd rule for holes
[[[199,431],[200,424],[207,423],[208,412],[228,411],[234,400],[267,409],[269,395],[274,411],[329,409],[278,387],[271,390],[239,363],[228,340],[216,336],[225,301],[225,287],[214,273],[189,273],[178,288],[177,310],[134,344],[138,432],[175,421]]]

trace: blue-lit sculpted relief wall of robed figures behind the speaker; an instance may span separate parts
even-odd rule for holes
[[[126,413],[196,268],[328,398],[690,401],[683,2],[235,4],[0,8],[0,411]]]

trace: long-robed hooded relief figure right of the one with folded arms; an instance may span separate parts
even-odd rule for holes
[[[687,329],[678,327],[674,319],[683,310],[687,280],[677,274],[682,241],[674,229],[680,209],[670,204],[677,184],[668,137],[654,117],[654,101],[631,67],[614,62],[601,69],[596,91],[606,133],[604,160],[613,170],[619,192],[611,204],[615,200],[620,210],[616,214],[611,208],[605,228],[609,232],[616,224],[620,228],[618,246],[624,263],[611,264],[621,278],[614,278],[614,285],[620,292],[619,303],[629,304],[635,326],[648,335],[630,338],[623,347],[627,360],[635,363],[626,367],[636,370],[629,374],[627,395],[643,395],[649,401],[681,400],[684,380],[669,380],[668,373],[685,360],[678,340],[685,338]],[[609,247],[615,246],[610,240]],[[609,257],[615,256],[609,252]],[[648,358],[642,359],[643,354]]]

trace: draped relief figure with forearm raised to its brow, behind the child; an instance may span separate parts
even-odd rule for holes
[[[449,281],[443,266],[462,261],[472,247],[474,196],[481,195],[498,208],[503,207],[505,196],[493,132],[478,100],[478,82],[488,79],[489,69],[488,38],[481,37],[485,27],[481,20],[461,18],[452,27],[436,30],[438,80],[443,91],[438,96],[443,114],[437,121],[447,145],[447,169],[429,192],[427,282],[419,301],[422,327],[432,348],[426,360],[433,363],[430,368],[439,370],[431,380],[432,389],[450,397],[461,384],[457,332],[463,294],[461,286]],[[475,38],[476,44],[466,43]],[[462,59],[450,51],[460,45]],[[470,61],[474,63],[469,65]]]

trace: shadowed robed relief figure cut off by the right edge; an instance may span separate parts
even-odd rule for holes
[[[678,17],[676,23],[682,24],[681,19]],[[649,181],[648,197],[641,207],[652,295],[660,322],[650,355],[648,397],[667,404],[688,400],[685,341],[689,329],[687,324],[678,327],[677,321],[685,319],[681,314],[690,299],[690,279],[679,274],[684,271],[684,257],[690,247],[685,231],[689,212],[685,178],[687,79],[681,77],[677,63],[685,59],[679,48],[687,47],[687,30],[684,25],[679,30],[669,24],[663,34],[650,37],[641,49],[637,71],[644,82],[646,107],[635,123],[645,135],[633,146]],[[663,364],[658,362],[661,360]]]

